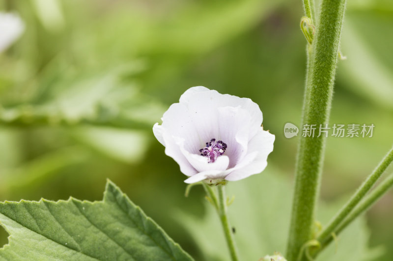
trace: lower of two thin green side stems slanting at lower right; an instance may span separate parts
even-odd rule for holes
[[[369,195],[367,195],[360,204],[349,214],[345,220],[337,227],[335,230],[335,235],[338,236],[352,221],[354,221],[358,216],[363,214],[368,210],[378,199],[383,196],[389,189],[393,186],[393,174],[391,174],[386,180],[384,180],[377,188],[372,190]],[[333,241],[334,237],[330,236],[322,247],[318,249],[318,252],[314,254],[314,257],[321,252],[326,246]]]

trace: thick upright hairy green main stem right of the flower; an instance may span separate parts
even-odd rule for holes
[[[319,126],[329,119],[344,7],[345,0],[322,1],[319,24],[309,47],[303,124]],[[316,136],[300,138],[286,255],[290,261],[296,260],[302,246],[312,237],[325,144],[323,135]]]

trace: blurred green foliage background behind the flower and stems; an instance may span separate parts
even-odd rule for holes
[[[255,203],[243,219],[247,205],[234,206],[234,220],[255,219],[281,235],[259,230],[255,237],[265,246],[254,249],[260,257],[285,251],[297,138],[285,139],[283,126],[300,124],[302,1],[1,0],[0,11],[17,12],[26,27],[0,53],[1,201],[100,200],[109,178],[196,260],[220,260],[220,251],[201,241],[221,228],[195,235],[201,220],[210,223],[202,189],[184,197],[186,176],[151,130],[186,89],[202,85],[252,98],[264,128],[276,135],[266,170],[228,186],[238,191],[234,204]],[[320,208],[323,222],[337,211],[333,202],[347,199],[392,146],[392,28],[391,0],[348,1],[341,41],[347,60],[338,63],[330,122],[375,128],[372,138],[327,139],[321,201],[332,210]],[[367,260],[393,260],[392,206],[391,191],[362,221],[363,246],[353,249],[377,249]],[[282,226],[264,217],[271,212],[282,217]],[[242,226],[236,223],[238,241]],[[353,237],[361,234],[352,230]],[[0,228],[0,246],[6,237]],[[239,246],[254,240],[247,233],[242,238]],[[349,253],[346,260],[360,259]]]

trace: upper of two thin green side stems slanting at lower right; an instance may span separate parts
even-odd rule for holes
[[[377,182],[379,177],[384,173],[386,168],[393,161],[393,148],[388,152],[385,158],[379,163],[375,170],[367,177],[365,182],[360,186],[360,188],[355,192],[355,194],[349,199],[349,201],[341,208],[341,210],[336,214],[334,218],[329,222],[326,228],[318,236],[317,240],[321,244],[325,244],[326,241],[331,237],[332,233],[337,229],[338,225],[347,218],[351,211],[356,207],[356,205],[364,198],[365,194],[371,187]]]

